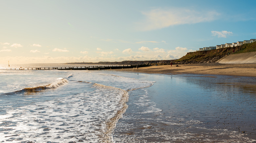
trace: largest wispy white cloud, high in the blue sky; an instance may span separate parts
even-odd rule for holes
[[[142,12],[142,14],[145,15],[145,20],[138,23],[138,29],[143,31],[161,29],[171,25],[209,22],[216,20],[220,15],[213,10],[196,11],[188,8],[153,9]]]

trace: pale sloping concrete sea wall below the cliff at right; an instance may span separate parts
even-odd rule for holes
[[[230,54],[224,59],[220,60],[221,64],[250,64],[256,63],[256,52],[241,53],[241,54]]]

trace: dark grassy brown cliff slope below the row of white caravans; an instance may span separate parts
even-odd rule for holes
[[[181,57],[180,59],[176,60],[175,64],[193,64],[193,63],[212,63],[216,62],[227,53],[232,54],[233,50],[235,52],[238,51],[249,51],[256,48],[256,42],[244,44],[242,46],[237,47],[229,47],[229,48],[222,48],[210,51],[197,51],[197,52],[190,52],[187,55]]]

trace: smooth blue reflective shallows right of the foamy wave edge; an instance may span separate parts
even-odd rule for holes
[[[156,83],[129,92],[116,142],[256,141],[254,77],[139,73],[136,78]]]

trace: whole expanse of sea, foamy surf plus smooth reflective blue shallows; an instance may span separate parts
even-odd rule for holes
[[[0,142],[256,142],[255,77],[72,66],[0,65]]]

